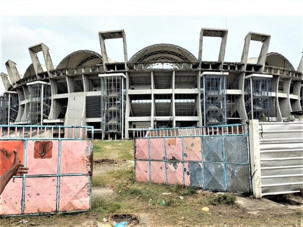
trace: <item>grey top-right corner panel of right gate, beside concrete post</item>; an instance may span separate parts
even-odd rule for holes
[[[224,150],[226,162],[248,162],[247,137],[224,137]]]

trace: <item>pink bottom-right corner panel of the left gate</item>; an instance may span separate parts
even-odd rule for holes
[[[89,176],[60,177],[59,211],[88,210]]]

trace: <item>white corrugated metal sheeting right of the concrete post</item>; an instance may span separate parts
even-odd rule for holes
[[[303,122],[259,123],[262,196],[303,187]]]

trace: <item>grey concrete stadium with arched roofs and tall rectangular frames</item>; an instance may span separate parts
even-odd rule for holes
[[[23,77],[10,60],[8,75],[1,73],[1,124],[88,125],[102,139],[129,139],[136,129],[295,121],[303,108],[303,59],[295,69],[282,54],[268,53],[270,35],[249,32],[241,60],[225,62],[227,34],[201,29],[198,58],[161,43],[128,60],[124,30],[99,32],[101,54],[75,51],[56,67],[45,44],[31,46]],[[204,37],[221,38],[218,61],[203,61]],[[107,56],[112,38],[122,39],[122,63]],[[251,40],[262,43],[258,58],[248,59]]]

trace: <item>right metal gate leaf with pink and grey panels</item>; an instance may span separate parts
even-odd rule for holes
[[[246,125],[135,131],[139,182],[250,192]]]

